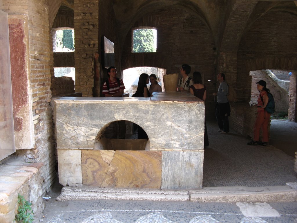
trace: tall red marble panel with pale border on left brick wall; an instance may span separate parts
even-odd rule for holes
[[[16,149],[34,148],[27,15],[9,15],[10,64]]]

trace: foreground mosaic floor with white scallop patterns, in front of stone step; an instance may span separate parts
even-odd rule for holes
[[[297,222],[297,202],[196,203],[71,201],[72,207],[45,214],[48,223],[274,223]],[[122,208],[119,208],[122,205]],[[101,208],[105,206],[107,208]],[[145,208],[153,207],[155,208]],[[113,208],[112,208],[113,207]],[[144,209],[143,209],[144,208]],[[53,216],[50,216],[53,215]]]

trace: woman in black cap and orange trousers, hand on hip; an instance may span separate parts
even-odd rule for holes
[[[270,114],[266,112],[265,108],[268,103],[268,93],[269,89],[266,88],[266,82],[263,80],[258,81],[257,89],[260,92],[258,97],[257,104],[257,118],[254,125],[254,137],[251,142],[248,142],[247,145],[262,145],[266,146],[268,143],[268,123],[270,121]],[[260,129],[262,129],[263,139],[262,142],[259,141],[260,138]]]

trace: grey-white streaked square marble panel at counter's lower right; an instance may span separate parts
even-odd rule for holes
[[[203,152],[163,151],[161,189],[202,188]]]

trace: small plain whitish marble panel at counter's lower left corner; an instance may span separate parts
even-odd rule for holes
[[[59,183],[63,186],[82,186],[80,150],[58,150]]]

